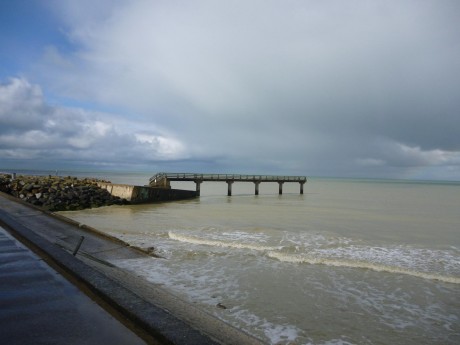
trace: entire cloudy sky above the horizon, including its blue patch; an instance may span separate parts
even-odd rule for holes
[[[458,0],[4,0],[0,170],[460,180]]]

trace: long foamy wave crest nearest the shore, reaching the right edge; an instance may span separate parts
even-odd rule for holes
[[[277,259],[283,262],[290,263],[305,263],[311,265],[326,265],[333,267],[348,267],[348,268],[363,268],[370,269],[377,272],[389,272],[389,273],[399,273],[407,274],[419,278],[430,279],[430,280],[439,280],[445,283],[460,284],[460,277],[455,276],[446,276],[441,274],[419,272],[407,268],[395,267],[390,265],[378,264],[373,262],[366,261],[355,261],[347,259],[338,259],[338,258],[324,258],[311,255],[302,255],[302,254],[286,254],[275,251],[269,251],[267,256],[273,259]]]

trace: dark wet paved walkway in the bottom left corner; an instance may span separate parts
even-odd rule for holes
[[[145,344],[0,228],[3,344]]]

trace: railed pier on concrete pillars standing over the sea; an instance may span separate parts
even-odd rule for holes
[[[240,175],[240,174],[195,174],[195,173],[165,173],[152,176],[149,186],[153,188],[171,188],[171,181],[192,181],[196,184],[196,194],[200,195],[200,185],[203,182],[226,182],[227,195],[232,195],[234,182],[252,182],[255,185],[255,195],[259,195],[259,185],[262,182],[276,182],[279,185],[278,193],[283,194],[283,184],[296,182],[300,184],[300,194],[303,194],[303,185],[307,182],[305,176],[274,176],[274,175]]]

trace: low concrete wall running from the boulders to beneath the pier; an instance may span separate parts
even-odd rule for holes
[[[197,197],[197,192],[191,190],[152,188],[148,186],[104,182],[98,182],[98,186],[106,189],[110,194],[126,199],[133,204],[183,200]]]

